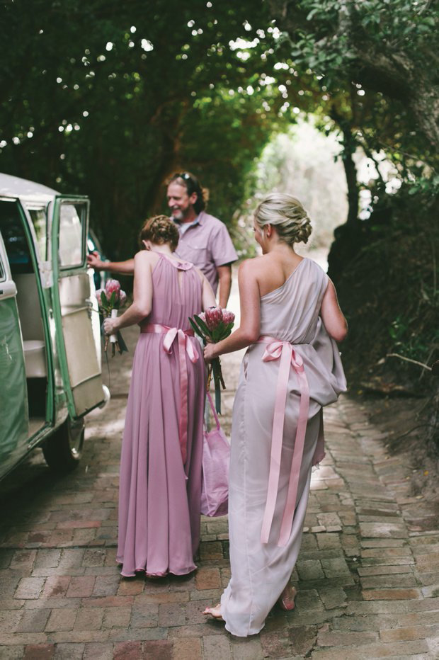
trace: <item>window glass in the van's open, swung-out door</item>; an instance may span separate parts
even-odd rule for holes
[[[59,209],[59,266],[74,268],[84,263],[86,206],[71,202]]]

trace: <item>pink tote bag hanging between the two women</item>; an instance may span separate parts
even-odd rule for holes
[[[204,516],[225,516],[229,503],[230,444],[220,426],[210,392],[207,392],[216,428],[203,433],[203,484],[201,513]]]

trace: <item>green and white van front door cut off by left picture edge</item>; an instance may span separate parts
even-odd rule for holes
[[[28,394],[16,297],[0,234],[0,476],[28,448]]]

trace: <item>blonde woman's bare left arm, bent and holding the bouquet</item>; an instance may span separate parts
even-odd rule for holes
[[[223,353],[239,351],[258,339],[261,332],[261,296],[259,295],[256,269],[252,260],[243,261],[238,271],[241,325],[232,334],[218,343],[208,343],[205,360],[212,360]]]

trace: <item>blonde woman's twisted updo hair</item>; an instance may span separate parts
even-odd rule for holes
[[[262,229],[271,224],[278,232],[280,241],[291,247],[295,243],[307,243],[312,232],[311,222],[304,207],[292,195],[270,193],[258,205],[255,220]]]

